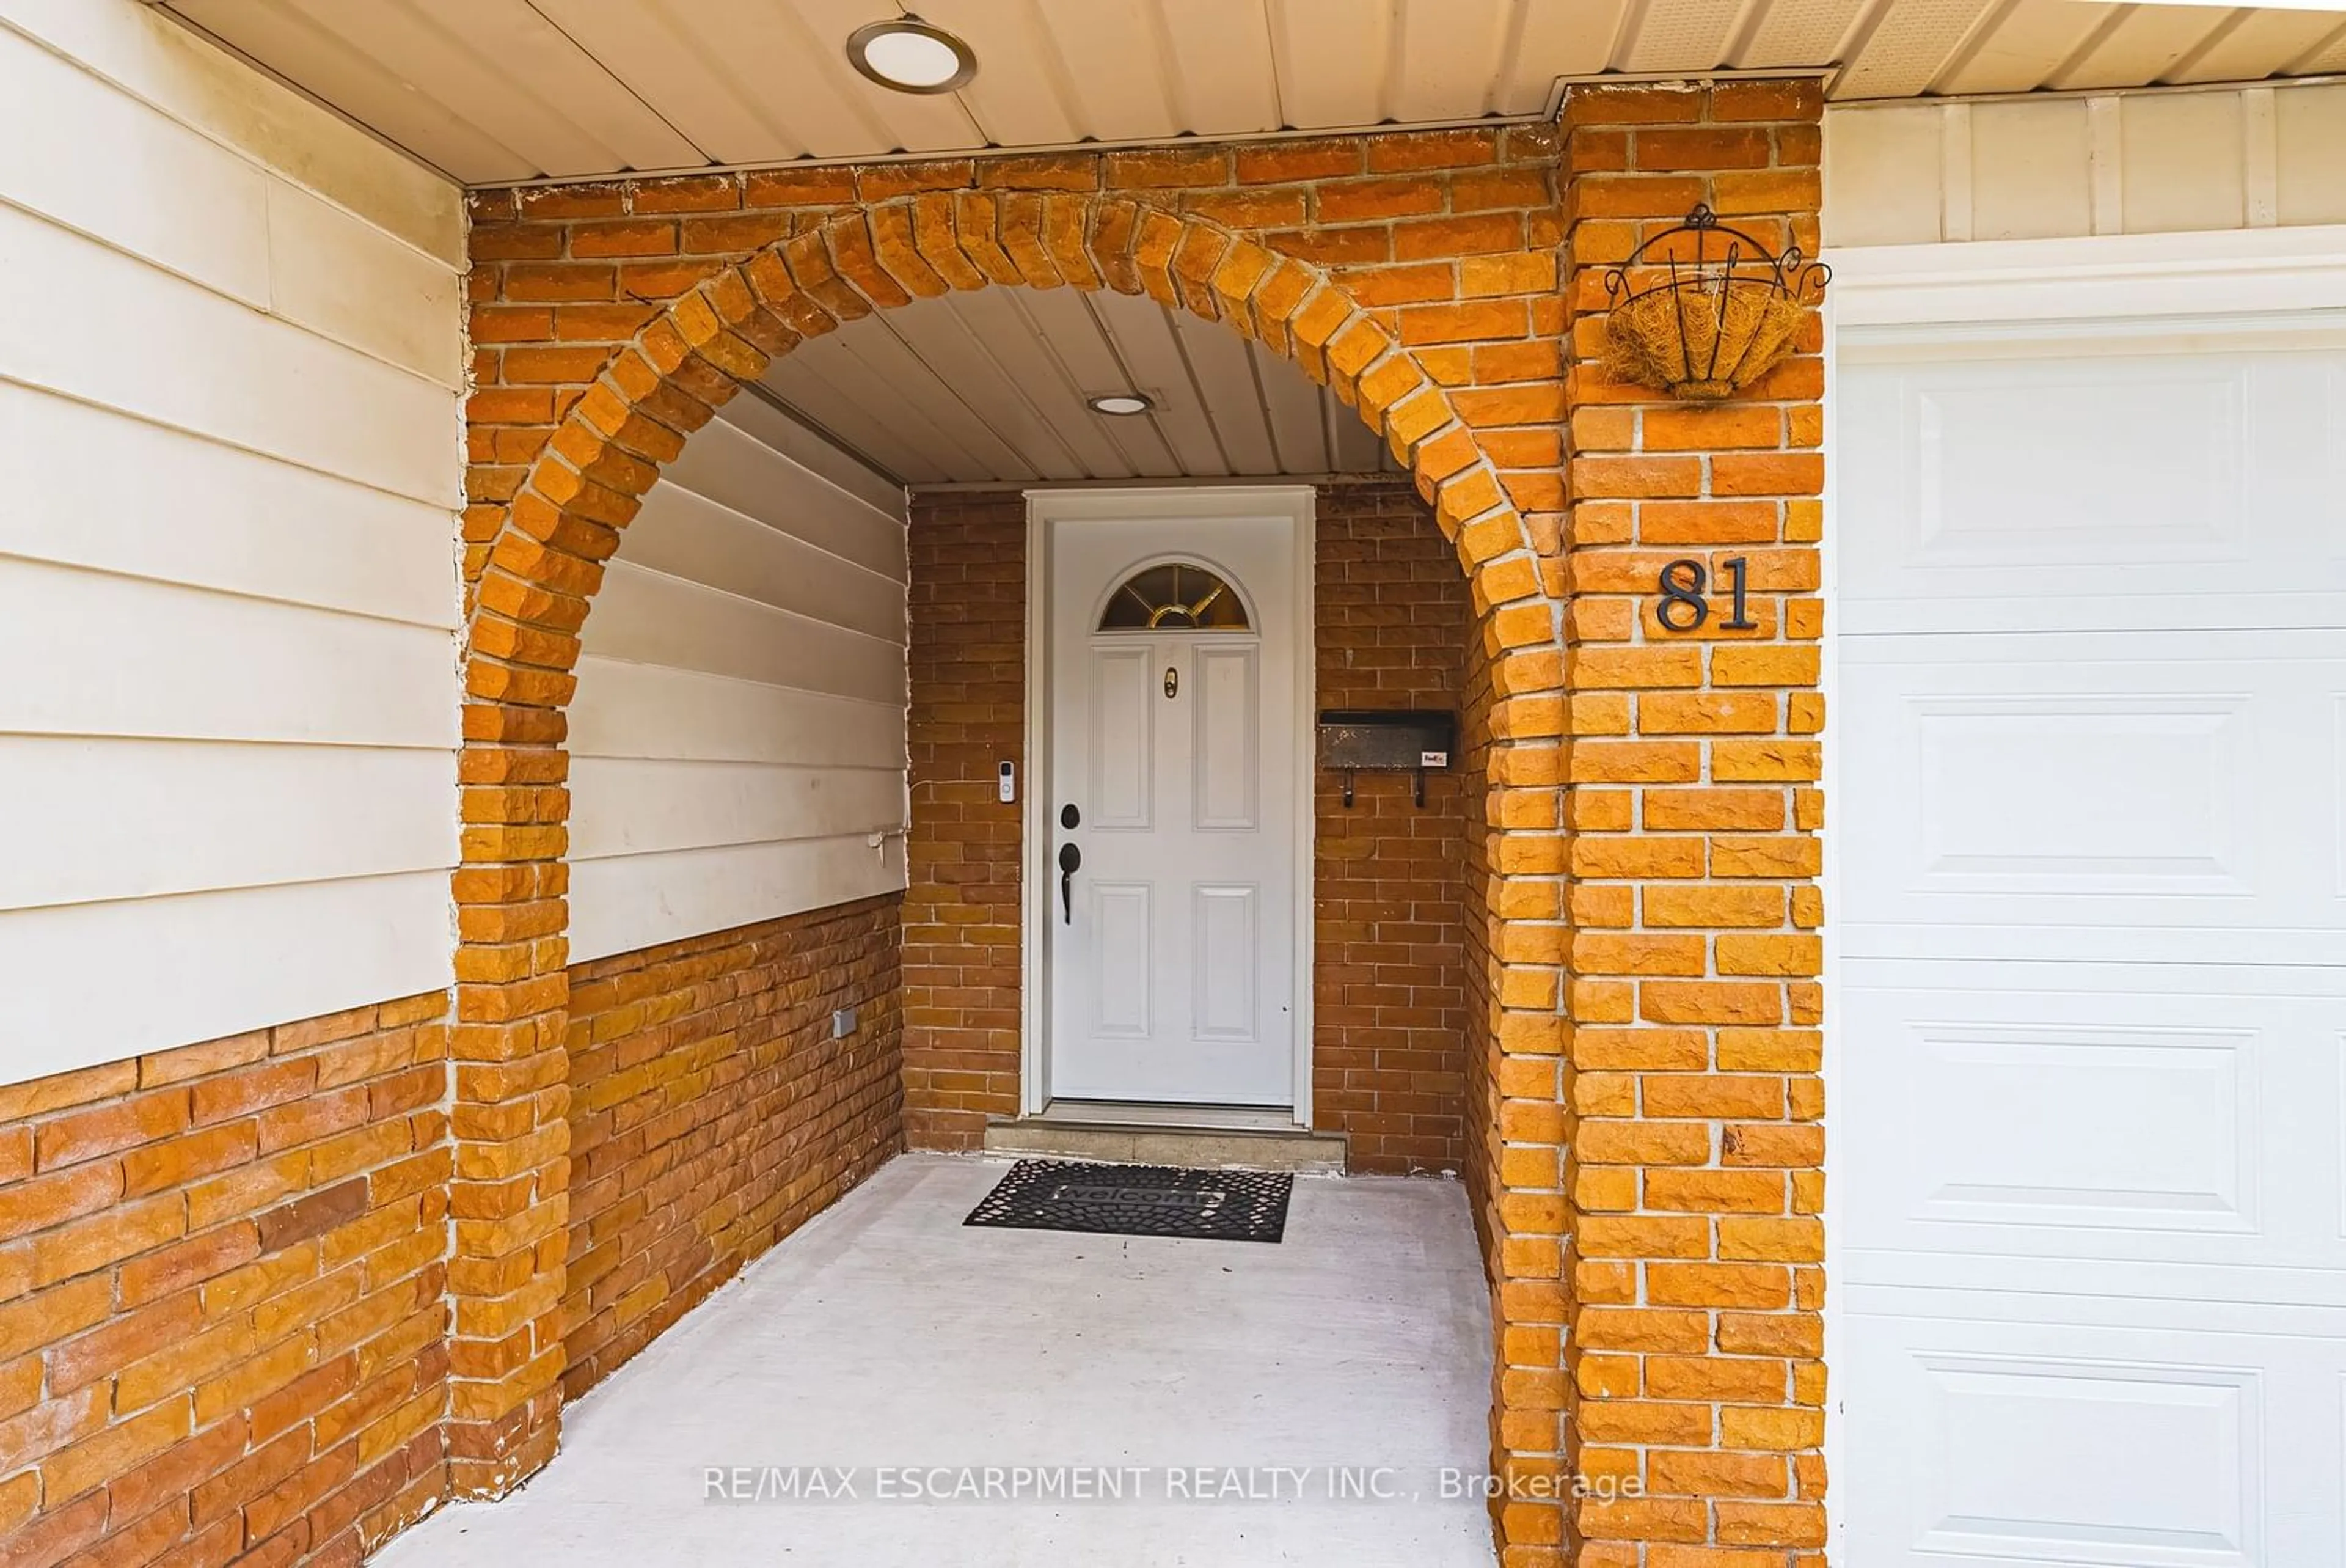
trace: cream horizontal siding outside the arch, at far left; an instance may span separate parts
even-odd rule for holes
[[[0,1080],[448,984],[460,211],[0,0]]]

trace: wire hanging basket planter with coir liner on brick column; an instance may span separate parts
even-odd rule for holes
[[[1830,277],[1696,204],[1605,275],[1605,373],[1687,401],[1731,397],[1783,364]]]

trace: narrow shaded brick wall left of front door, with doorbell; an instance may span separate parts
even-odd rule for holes
[[[995,768],[1025,779],[1025,500],[917,495],[910,575],[906,1136],[976,1148],[1018,1115],[1021,807]]]

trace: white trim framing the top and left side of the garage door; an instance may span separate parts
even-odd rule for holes
[[[2240,228],[2179,235],[2095,235],[2074,239],[1959,239],[1942,244],[1828,246],[1832,286],[1825,291],[1825,540],[1820,592],[1825,636],[1820,692],[1825,697],[1825,803],[1842,798],[1842,746],[1832,737],[1842,707],[1839,552],[1842,453],[1839,415],[1842,338],[1912,338],[1996,343],[2060,336],[2189,333],[2194,326],[2238,329],[2243,315],[2266,317],[2294,343],[2346,336],[2346,225]],[[1856,331],[1851,331],[1856,329]],[[1842,944],[1832,911],[1846,908],[1839,836],[1828,826],[1825,864],[1825,1474],[1846,1476],[1849,1322],[1844,1246],[1846,1218],[1832,1150],[1830,1108],[1846,1087],[1842,1019]],[[1849,1512],[1825,1493],[1828,1549],[1846,1561]]]

